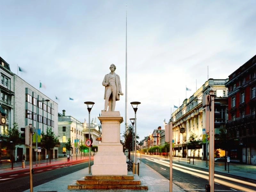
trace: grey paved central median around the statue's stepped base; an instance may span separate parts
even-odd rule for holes
[[[140,161],[139,161],[140,162]],[[81,189],[68,189],[68,185],[76,183],[76,180],[84,179],[84,176],[88,174],[88,167],[80,171],[71,173],[69,175],[60,177],[56,180],[49,181],[42,185],[33,188],[34,191],[61,191],[61,192],[81,192]],[[142,185],[148,186],[148,192],[168,192],[170,187],[170,182],[165,177],[160,175],[158,172],[150,168],[143,162],[140,163],[140,180]],[[25,192],[29,192],[30,189]],[[89,192],[92,190],[82,190],[84,192]],[[106,190],[96,189],[97,192],[103,192]],[[112,189],[107,190],[108,192],[142,192],[143,190],[118,190]],[[181,188],[172,184],[172,192],[184,192]]]

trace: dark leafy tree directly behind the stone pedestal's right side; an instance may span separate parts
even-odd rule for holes
[[[131,159],[130,158],[131,151],[132,151],[132,125],[131,124],[127,127],[126,132],[124,132],[123,138],[124,138],[124,141],[121,143],[123,144],[124,148],[128,149],[128,153],[129,153],[128,157],[129,157],[129,159]],[[133,138],[134,138],[134,141],[133,141],[133,147],[134,147],[135,146],[135,137],[133,137]],[[136,138],[137,138],[136,143],[137,143],[137,149],[138,149],[138,144],[139,144],[138,140],[140,139],[140,137],[137,135]],[[135,151],[135,153],[136,153],[136,151]]]

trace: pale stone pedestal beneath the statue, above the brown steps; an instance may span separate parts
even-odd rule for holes
[[[94,156],[92,175],[127,175],[126,156],[120,143],[120,124],[124,121],[119,111],[102,111],[102,141]]]

